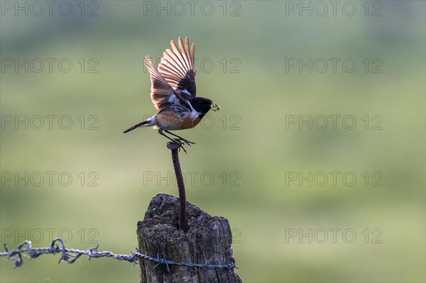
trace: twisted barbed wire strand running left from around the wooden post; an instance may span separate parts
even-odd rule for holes
[[[56,242],[59,242],[62,247],[59,245],[55,245]],[[50,243],[49,248],[33,248],[31,245],[30,240],[25,240],[21,245],[18,245],[18,249],[16,250],[9,250],[9,247],[4,244],[4,250],[6,252],[0,253],[0,257],[7,256],[9,260],[13,260],[13,263],[15,264],[15,267],[20,267],[23,264],[22,254],[26,253],[31,258],[39,257],[40,255],[48,255],[56,253],[61,253],[61,257],[59,259],[58,264],[65,260],[69,264],[74,263],[79,257],[82,255],[87,255],[89,257],[89,260],[92,259],[92,257],[111,257],[116,260],[126,260],[128,262],[133,262],[133,265],[139,264],[139,259],[145,259],[145,260],[151,260],[153,262],[157,262],[157,264],[154,267],[158,267],[158,265],[163,265],[166,267],[167,271],[170,272],[169,265],[179,265],[179,266],[187,266],[187,267],[209,267],[209,268],[226,268],[228,270],[231,270],[233,268],[238,268],[234,262],[227,263],[226,265],[204,265],[200,263],[192,263],[192,262],[174,262],[173,260],[166,260],[163,257],[160,257],[160,255],[157,254],[157,257],[150,257],[148,255],[143,255],[143,253],[139,253],[139,250],[136,248],[136,252],[131,252],[130,255],[116,255],[109,251],[103,251],[100,252],[97,249],[99,248],[99,245],[94,248],[88,248],[87,250],[76,250],[76,249],[70,249],[65,248],[64,240],[61,238],[55,238],[52,240],[52,243]]]

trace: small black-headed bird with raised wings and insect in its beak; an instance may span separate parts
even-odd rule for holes
[[[150,57],[145,57],[145,65],[151,75],[151,100],[158,113],[123,133],[153,126],[158,128],[160,135],[178,143],[185,150],[182,143],[193,143],[170,131],[194,128],[210,109],[219,111],[220,107],[211,99],[195,96],[195,46],[192,43],[190,48],[188,38],[185,38],[185,45],[179,38],[178,44],[179,48],[173,40],[170,41],[172,49],[163,52],[158,68]],[[175,138],[170,138],[164,132]]]

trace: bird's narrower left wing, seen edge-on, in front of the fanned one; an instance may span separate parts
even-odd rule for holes
[[[151,100],[155,108],[161,111],[170,105],[186,106],[185,99],[180,94],[175,93],[170,84],[158,72],[157,67],[150,57],[145,57],[145,65],[151,74]]]

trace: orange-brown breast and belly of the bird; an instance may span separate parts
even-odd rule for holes
[[[201,117],[193,118],[191,115],[180,117],[175,111],[161,111],[155,117],[158,127],[169,131],[185,130],[194,128],[201,121]]]

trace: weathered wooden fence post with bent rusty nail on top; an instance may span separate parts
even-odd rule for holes
[[[173,146],[170,148],[168,145],[168,148],[173,155]],[[175,153],[177,157],[177,151]],[[175,157],[173,165],[178,165],[179,160],[175,160]],[[176,166],[175,172],[178,174]],[[182,192],[185,195],[185,189],[179,189],[180,196]],[[173,262],[219,267],[166,265],[165,261],[157,264],[150,260],[140,260],[141,283],[241,283],[234,268],[228,220],[210,216],[186,201],[185,211],[182,201],[182,198],[169,194],[158,194],[151,199],[143,221],[138,221],[139,251]],[[186,215],[185,221],[181,217],[182,213]]]

